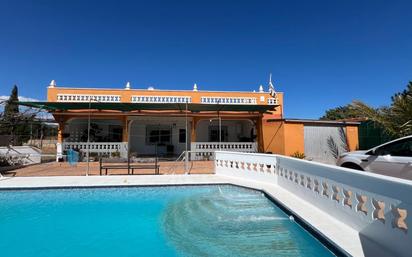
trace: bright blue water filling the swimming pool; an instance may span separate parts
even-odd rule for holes
[[[234,186],[0,191],[0,256],[332,256]]]

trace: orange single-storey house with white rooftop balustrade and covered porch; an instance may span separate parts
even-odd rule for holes
[[[21,104],[48,110],[59,124],[57,154],[76,148],[95,154],[179,156],[215,150],[305,152],[303,121],[285,120],[283,93],[69,88],[52,81],[46,102]],[[341,124],[356,148],[356,124]],[[346,129],[348,127],[349,129]],[[89,129],[88,129],[89,128]],[[89,143],[87,143],[89,141]]]

